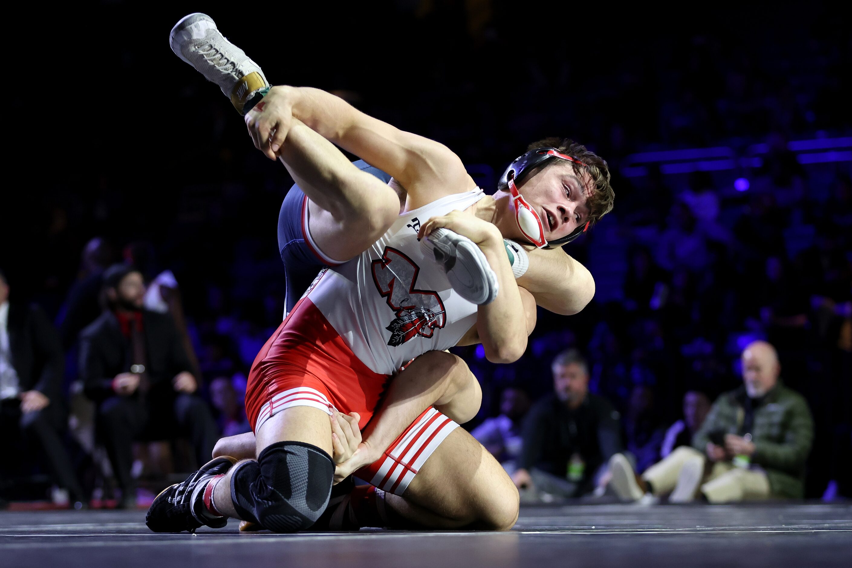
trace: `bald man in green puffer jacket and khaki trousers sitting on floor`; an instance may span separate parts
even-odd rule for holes
[[[742,353],[743,383],[717,398],[693,438],[639,478],[623,456],[610,463],[613,490],[636,501],[646,492],[669,501],[711,503],[804,494],[814,437],[808,403],[779,379],[774,347],[755,341]]]

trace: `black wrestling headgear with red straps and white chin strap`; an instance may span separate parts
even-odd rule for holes
[[[544,238],[544,224],[541,222],[541,217],[538,217],[538,212],[527,203],[527,200],[518,191],[516,182],[521,181],[536,166],[542,165],[545,161],[554,158],[567,159],[576,164],[585,165],[579,159],[567,154],[561,154],[556,148],[535,148],[527,152],[527,154],[523,154],[512,160],[512,163],[506,168],[503,177],[500,178],[497,184],[498,189],[508,190],[512,196],[512,206],[515,207],[515,221],[518,223],[518,228],[521,229],[521,234],[533,243],[533,245],[538,246],[538,248],[552,248],[555,245],[564,245],[573,241],[579,235],[582,235],[586,229],[589,229],[589,222],[586,222],[582,227],[574,229],[570,235],[548,242]]]

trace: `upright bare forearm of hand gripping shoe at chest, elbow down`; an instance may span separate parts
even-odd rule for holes
[[[515,362],[527,349],[527,315],[512,274],[503,241],[481,245],[488,264],[497,275],[499,292],[491,304],[477,310],[476,331],[488,361]]]

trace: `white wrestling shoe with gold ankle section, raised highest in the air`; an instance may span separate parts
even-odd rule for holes
[[[208,81],[219,85],[240,114],[258,91],[269,86],[261,67],[245,51],[227,41],[207,14],[189,14],[171,28],[169,45]]]

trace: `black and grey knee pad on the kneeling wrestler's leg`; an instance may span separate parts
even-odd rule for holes
[[[334,462],[322,449],[302,442],[276,442],[257,461],[233,473],[231,497],[241,519],[273,532],[314,525],[328,505]]]

